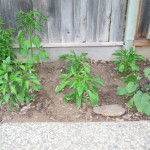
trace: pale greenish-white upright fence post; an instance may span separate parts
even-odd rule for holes
[[[124,37],[125,49],[133,47],[139,3],[140,0],[128,0],[125,37]]]

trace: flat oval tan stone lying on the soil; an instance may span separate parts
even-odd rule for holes
[[[121,116],[125,113],[125,111],[126,110],[121,105],[118,104],[103,105],[93,108],[94,113],[111,117]]]

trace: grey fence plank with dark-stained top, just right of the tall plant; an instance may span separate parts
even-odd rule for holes
[[[61,0],[48,1],[48,35],[50,43],[61,42]]]

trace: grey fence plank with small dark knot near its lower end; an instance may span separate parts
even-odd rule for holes
[[[61,0],[61,33],[63,43],[74,41],[73,8],[73,0]]]

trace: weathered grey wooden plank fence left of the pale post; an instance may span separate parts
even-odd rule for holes
[[[16,27],[16,13],[39,10],[47,16],[43,42],[120,42],[127,0],[0,0],[6,27]]]

